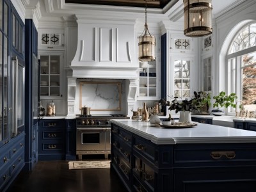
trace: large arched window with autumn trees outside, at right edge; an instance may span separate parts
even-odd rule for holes
[[[228,92],[243,100],[244,109],[256,109],[256,23],[241,29],[227,54]]]

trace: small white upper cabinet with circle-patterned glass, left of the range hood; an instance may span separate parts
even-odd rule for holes
[[[64,40],[63,29],[38,30],[38,49],[64,50]]]

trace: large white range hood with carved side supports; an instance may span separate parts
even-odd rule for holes
[[[124,115],[132,116],[139,86],[135,20],[77,17],[77,51],[68,77],[68,116],[79,111],[79,79],[126,79]],[[123,109],[124,109],[123,108]]]

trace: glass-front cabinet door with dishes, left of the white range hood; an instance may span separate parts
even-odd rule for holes
[[[40,99],[62,97],[63,54],[40,53]]]

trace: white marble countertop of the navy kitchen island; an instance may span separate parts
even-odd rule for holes
[[[152,127],[148,122],[137,120],[111,120],[128,131],[152,141],[158,145],[176,143],[255,143],[256,132],[223,127],[218,125],[198,124],[196,127],[166,129]]]

